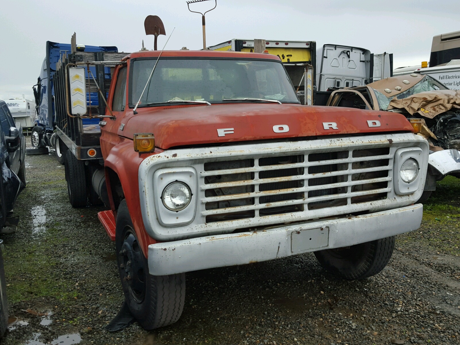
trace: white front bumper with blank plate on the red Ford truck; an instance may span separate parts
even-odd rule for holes
[[[417,230],[423,206],[416,204],[357,217],[324,219],[257,232],[240,232],[151,244],[154,276],[249,264],[352,246]]]

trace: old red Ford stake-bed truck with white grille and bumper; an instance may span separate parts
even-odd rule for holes
[[[178,320],[185,272],[314,252],[333,274],[362,279],[420,226],[428,144],[403,115],[301,105],[266,53],[104,54],[58,63],[57,143],[72,205],[109,208],[98,216],[144,328]],[[102,64],[113,67],[99,92],[108,98],[88,131],[77,84],[100,91],[104,77],[85,73]]]

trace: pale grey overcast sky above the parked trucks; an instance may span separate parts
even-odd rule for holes
[[[213,6],[214,0],[191,6]],[[393,53],[394,67],[430,57],[433,35],[460,30],[458,0],[217,0],[206,16],[207,46],[232,38],[315,40]],[[0,11],[0,99],[32,99],[47,40],[141,48],[147,15],[161,17],[166,49],[201,49],[201,18],[185,0],[5,0]],[[159,37],[161,49],[167,36]]]

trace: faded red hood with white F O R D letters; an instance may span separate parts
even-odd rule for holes
[[[371,132],[412,132],[401,114],[299,104],[213,104],[139,108],[118,134],[153,133],[155,146],[316,137]],[[378,126],[380,125],[380,126]]]

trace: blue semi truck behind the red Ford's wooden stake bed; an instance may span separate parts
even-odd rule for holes
[[[104,52],[118,52],[115,46],[84,46],[75,45],[74,50],[76,52],[94,53],[94,60],[97,60],[98,53]],[[63,149],[65,146],[59,145],[59,139],[56,134],[56,116],[55,116],[55,104],[54,104],[54,83],[53,76],[56,72],[59,60],[63,60],[63,57],[69,56],[72,51],[71,44],[56,43],[47,41],[46,42],[46,57],[43,60],[42,67],[40,69],[40,76],[38,77],[37,84],[33,86],[35,96],[35,108],[37,109],[37,116],[35,119],[34,127],[31,132],[31,141],[33,149],[29,149],[27,153],[29,155],[47,154],[48,147],[56,149],[57,160],[63,164],[65,155],[63,155]],[[75,56],[75,55],[74,55]],[[98,75],[94,66],[89,67],[93,75]],[[100,72],[100,71],[98,71]],[[110,68],[105,67],[103,71],[103,79],[110,80]],[[91,83],[91,75],[86,72],[86,82]],[[97,111],[99,98],[98,90],[96,87],[86,88],[91,92],[86,92],[86,105],[92,107]],[[108,91],[108,89],[106,90]],[[98,126],[99,119],[82,119],[83,126]]]

